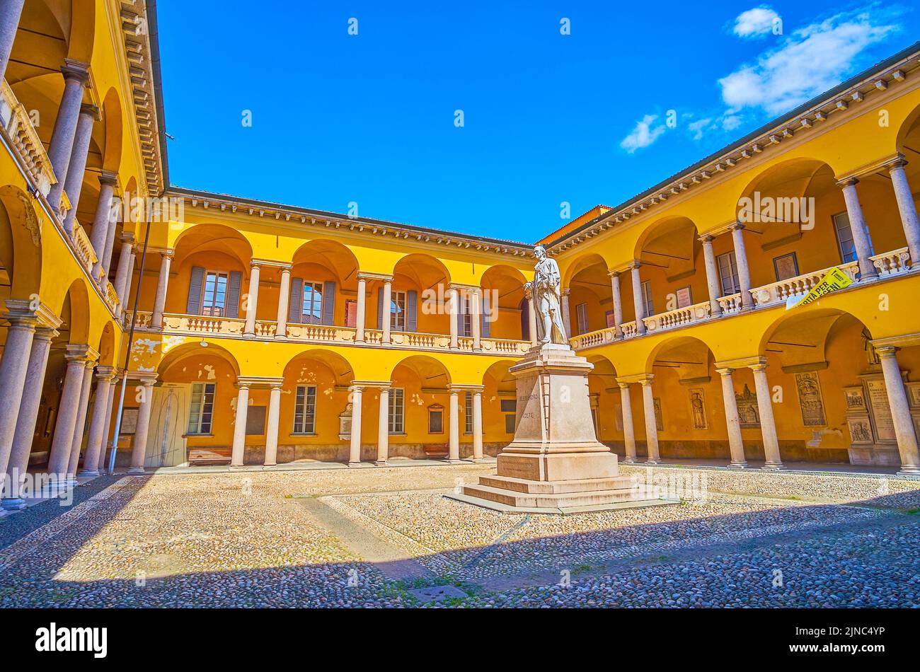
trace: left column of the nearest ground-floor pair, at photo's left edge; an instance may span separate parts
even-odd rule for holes
[[[12,451],[29,370],[29,353],[38,324],[35,313],[29,311],[29,302],[7,300],[6,308],[4,319],[9,328],[3,359],[0,359],[0,474],[6,473]]]

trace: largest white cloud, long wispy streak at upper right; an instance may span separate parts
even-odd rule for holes
[[[838,84],[863,51],[897,32],[896,15],[872,6],[871,13],[844,12],[800,28],[757,63],[720,79],[722,99],[730,108],[759,107],[770,114],[795,108]]]

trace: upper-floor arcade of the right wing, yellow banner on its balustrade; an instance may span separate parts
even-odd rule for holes
[[[903,152],[920,123],[903,133]],[[701,233],[679,215],[654,222],[625,267],[585,253],[569,266],[563,312],[576,349],[694,325],[803,297],[834,267],[857,284],[920,268],[911,185],[920,166],[891,156],[838,179],[817,160],[791,160],[753,177],[738,221]],[[753,204],[755,215],[743,208]],[[786,210],[763,210],[779,204]],[[627,297],[624,299],[624,297]]]

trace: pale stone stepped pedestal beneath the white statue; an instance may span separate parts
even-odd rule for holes
[[[616,455],[595,436],[588,396],[593,368],[560,345],[532,348],[512,366],[514,440],[499,455],[497,475],[466,485],[454,499],[536,513],[660,504],[644,485],[620,475]]]

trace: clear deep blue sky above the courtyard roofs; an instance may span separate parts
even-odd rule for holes
[[[171,181],[531,242],[920,36],[891,3],[620,5],[159,0]]]

